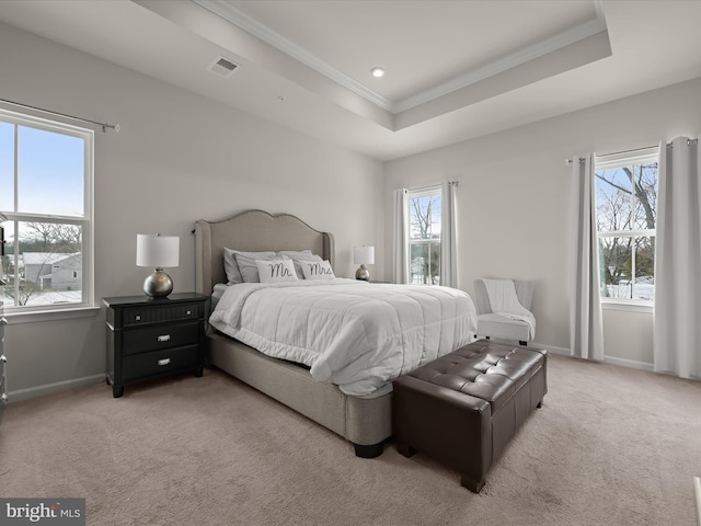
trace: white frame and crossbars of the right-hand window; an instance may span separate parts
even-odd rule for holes
[[[641,165],[650,162],[657,163],[657,187],[659,187],[659,147],[647,147],[640,148],[632,151],[623,151],[618,153],[609,153],[605,156],[596,156],[594,159],[594,173],[595,173],[595,187],[594,193],[595,197],[598,193],[597,188],[597,176],[596,174],[601,170],[631,167],[631,165]],[[633,198],[633,197],[631,197]],[[598,207],[598,204],[597,204]],[[656,209],[656,208],[655,208]],[[628,230],[599,230],[598,218],[597,218],[597,242],[599,243],[599,251],[601,250],[601,239],[602,238],[631,238],[633,243],[633,250],[631,251],[631,267],[632,267],[632,276],[631,276],[631,295],[634,291],[635,287],[635,240],[640,238],[653,238],[657,237],[657,217],[655,214],[655,228],[650,229],[641,229],[641,228],[631,228]],[[599,262],[602,263],[602,255],[599,258]],[[605,268],[599,268],[599,275],[601,276],[601,289],[606,287],[606,282],[604,279]],[[601,290],[599,290],[599,294]],[[614,298],[610,296],[599,296],[601,300],[601,306],[606,308],[642,308],[650,309],[654,307],[654,296],[653,299],[635,299],[635,298]]]

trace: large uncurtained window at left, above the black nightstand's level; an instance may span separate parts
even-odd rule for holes
[[[93,136],[0,110],[7,312],[92,306]]]

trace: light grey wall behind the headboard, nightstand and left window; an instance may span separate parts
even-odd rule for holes
[[[95,134],[96,305],[142,294],[137,233],[181,237],[181,264],[169,274],[175,291],[193,290],[194,221],[249,208],[333,232],[341,276],[354,275],[356,244],[379,247],[382,263],[381,162],[2,24],[0,49],[3,99],[120,125]],[[104,308],[80,320],[10,323],[14,400],[104,374]]]

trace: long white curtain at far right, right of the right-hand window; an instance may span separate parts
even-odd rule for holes
[[[654,368],[701,378],[699,140],[659,146]]]

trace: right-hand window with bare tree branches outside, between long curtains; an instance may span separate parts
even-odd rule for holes
[[[596,158],[601,298],[652,301],[658,148]]]

